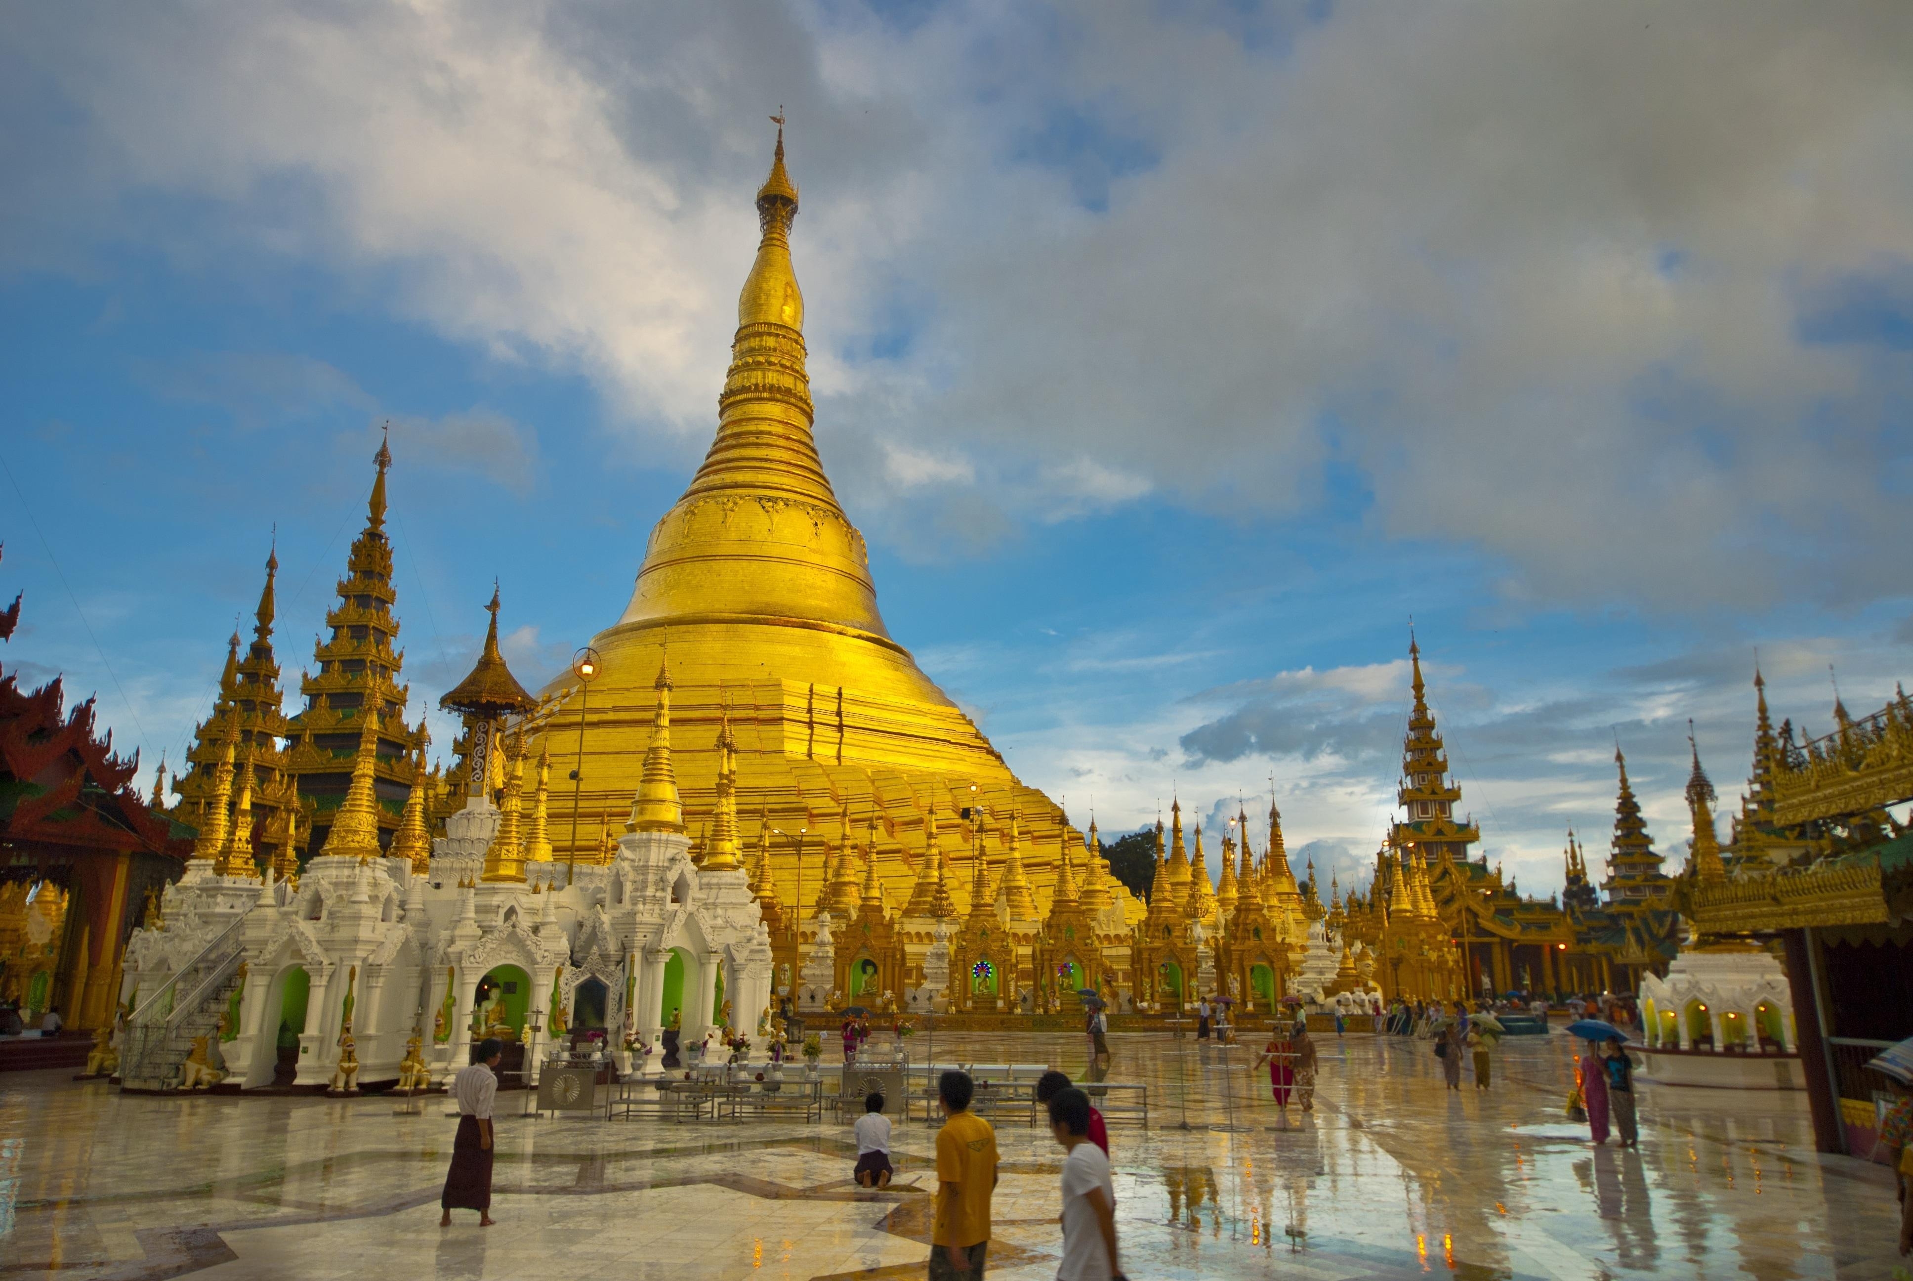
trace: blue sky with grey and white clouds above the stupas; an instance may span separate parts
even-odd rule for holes
[[[1274,787],[1347,873],[1414,618],[1523,888],[1616,737],[1682,856],[1756,653],[1812,731],[1913,668],[1909,65],[1888,0],[8,4],[0,661],[176,760],[274,528],[310,655],[390,419],[413,693],[494,576],[562,664],[710,440],[782,105],[825,463],[1025,779]]]

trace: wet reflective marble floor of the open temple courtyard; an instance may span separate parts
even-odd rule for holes
[[[1488,1091],[1446,1093],[1423,1042],[1322,1044],[1287,1120],[1243,1049],[1117,1034],[1150,1084],[1111,1128],[1125,1268],[1154,1277],[1892,1277],[1888,1172],[1814,1153],[1804,1099],[1645,1088],[1638,1153],[1569,1124],[1572,1045],[1509,1040]],[[1010,1042],[1010,1044],[1006,1044]],[[928,1044],[913,1042],[913,1049]],[[935,1057],[1050,1061],[1079,1036],[941,1034]],[[444,1099],[134,1097],[0,1078],[0,1277],[916,1277],[934,1128],[897,1183],[849,1183],[826,1120],[534,1120],[503,1095],[492,1210],[438,1227]],[[1056,1273],[1060,1149],[999,1124],[993,1277]]]

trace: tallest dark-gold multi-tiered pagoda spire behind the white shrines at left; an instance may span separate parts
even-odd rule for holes
[[[398,594],[392,590],[392,542],[385,536],[385,473],[392,450],[381,444],[373,461],[379,477],[365,504],[365,528],[352,540],[339,603],[325,613],[333,634],[314,647],[319,670],[300,676],[306,708],[287,730],[293,737],[289,772],[312,812],[302,844],[314,852],[325,846],[333,816],[352,787],[365,707],[377,726],[371,777],[383,846],[398,833],[425,743],[425,724],[406,724],[407,687],[398,684],[406,655],[394,649]]]

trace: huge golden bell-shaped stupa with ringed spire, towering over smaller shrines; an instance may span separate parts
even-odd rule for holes
[[[976,724],[891,640],[863,534],[817,456],[803,293],[790,262],[796,213],[779,126],[771,176],[758,191],[761,239],[737,303],[717,437],[683,498],[650,530],[624,615],[591,640],[597,663],[587,689],[543,726],[559,781],[553,856],[593,862],[601,820],[626,821],[650,745],[658,674],[668,668],[670,751],[694,856],[712,820],[717,739],[729,718],[738,835],[744,848],[769,846],[777,898],[800,904],[805,921],[826,888],[825,860],[836,865],[846,844],[859,867],[874,846],[884,900],[901,910],[932,806],[958,865],[981,848],[1000,867],[1018,814],[1023,867],[1046,910],[1060,841],[1077,854],[1081,835],[1066,829],[1056,802],[1016,781]],[[543,697],[578,682],[566,672]],[[583,777],[574,781],[580,739]],[[978,806],[981,837],[960,818]],[[759,825],[771,829],[767,843]],[[970,883],[955,877],[962,910]]]

